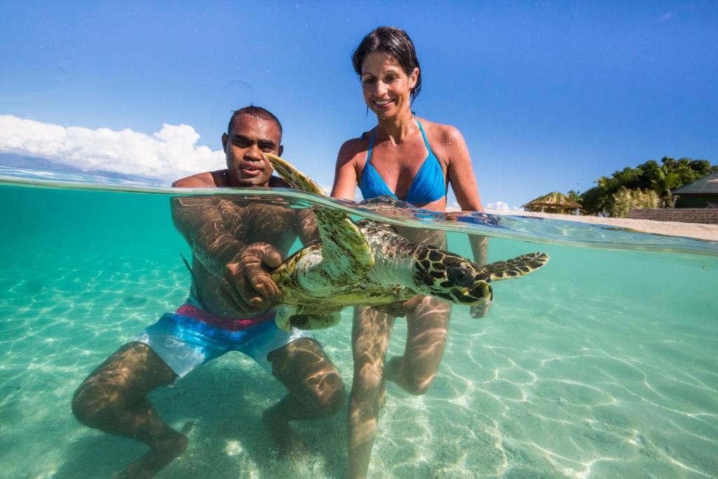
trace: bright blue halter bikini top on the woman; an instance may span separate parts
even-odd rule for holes
[[[416,121],[421,130],[421,136],[424,137],[424,144],[426,149],[429,150],[429,156],[424,159],[424,163],[421,164],[419,172],[416,173],[414,180],[411,181],[409,192],[406,193],[404,201],[407,203],[413,203],[414,205],[426,205],[426,203],[432,203],[436,200],[440,200],[447,194],[446,180],[444,179],[444,172],[442,171],[442,165],[439,163],[439,159],[432,152],[432,147],[429,146],[429,140],[426,139],[424,129],[421,127],[419,120]],[[399,199],[393,191],[386,185],[384,179],[379,175],[379,172],[371,165],[371,149],[374,147],[374,140],[376,139],[376,130],[371,136],[369,142],[369,151],[366,155],[366,163],[361,173],[361,183],[359,189],[365,200],[369,198],[388,195]]]

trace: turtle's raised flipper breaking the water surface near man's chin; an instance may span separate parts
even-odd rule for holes
[[[274,154],[266,153],[271,166],[282,179],[298,190],[326,196],[325,192],[297,168]],[[366,276],[374,256],[364,235],[349,216],[329,208],[316,208],[317,226],[322,238],[322,266],[317,269],[315,286],[322,283],[353,284]]]

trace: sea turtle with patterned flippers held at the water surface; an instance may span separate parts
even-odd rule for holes
[[[266,153],[274,170],[297,190],[325,195],[292,164]],[[536,271],[549,261],[531,253],[480,266],[435,246],[413,243],[390,225],[354,223],[349,215],[316,208],[321,244],[302,248],[272,273],[281,290],[276,324],[304,330],[331,327],[344,307],[386,304],[416,294],[472,305],[493,299],[490,282]]]

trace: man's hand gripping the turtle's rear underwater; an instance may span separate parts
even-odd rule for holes
[[[269,243],[252,243],[225,267],[220,294],[238,310],[266,310],[279,302],[281,292],[271,279],[271,269],[279,267],[282,258]]]

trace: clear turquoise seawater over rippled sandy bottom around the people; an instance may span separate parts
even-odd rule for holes
[[[119,345],[185,299],[179,254],[189,250],[166,191],[2,174],[0,476],[111,477],[146,448],[81,426],[70,400]],[[286,191],[258,200],[314,204]],[[483,320],[454,307],[429,392],[388,386],[370,477],[718,476],[717,243],[532,218],[388,220],[447,229],[460,254],[468,231],[491,237],[490,261],[531,251],[551,261],[495,282]],[[350,384],[351,310],[343,315],[318,337]],[[390,355],[404,338],[397,320]],[[345,409],[295,424],[312,450],[303,461],[267,453],[261,412],[283,395],[239,353],[155,391],[169,424],[195,422],[187,451],[159,477],[343,477]]]

